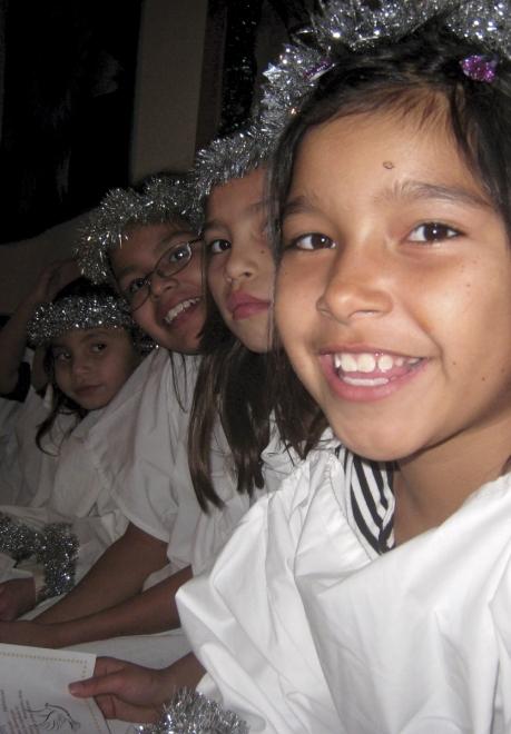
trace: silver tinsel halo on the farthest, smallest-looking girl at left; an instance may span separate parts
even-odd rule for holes
[[[27,326],[27,340],[37,347],[76,329],[132,329],[134,321],[114,296],[68,296],[55,304],[41,304]]]

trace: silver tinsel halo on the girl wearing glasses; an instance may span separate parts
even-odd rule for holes
[[[141,191],[112,189],[89,212],[75,247],[82,275],[92,282],[111,280],[108,252],[122,245],[129,227],[164,224],[178,217],[198,230],[200,211],[189,178],[154,176]]]

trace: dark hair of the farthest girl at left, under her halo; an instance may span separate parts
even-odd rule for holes
[[[94,285],[90,280],[83,277],[76,278],[75,280],[71,280],[71,282],[69,282],[67,286],[61,288],[53,298],[53,304],[58,302],[59,300],[62,300],[63,298],[67,298],[68,296],[82,296],[82,297],[114,296],[115,298],[117,298],[116,291],[110,286],[105,284]],[[134,338],[134,343],[135,343],[135,340],[137,339],[135,333],[131,334],[130,336],[131,338]],[[45,366],[45,371],[48,375],[48,380],[53,389],[53,399],[52,399],[50,413],[48,414],[47,418],[45,418],[45,420],[38,426],[36,433],[36,444],[41,449],[41,452],[48,454],[47,449],[45,449],[42,446],[42,438],[43,436],[46,436],[51,432],[51,428],[53,427],[57,420],[57,416],[60,414],[76,416],[75,425],[71,426],[68,430],[68,433],[70,433],[73,429],[73,427],[76,427],[76,425],[78,425],[78,423],[82,418],[85,418],[88,411],[85,408],[82,408],[80,405],[78,405],[78,403],[75,403],[75,400],[71,400],[67,395],[65,395],[57,385],[57,380],[55,378],[55,359],[53,359],[51,345],[48,345],[46,347],[43,366]]]

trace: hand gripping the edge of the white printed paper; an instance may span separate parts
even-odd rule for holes
[[[161,714],[161,705],[174,693],[168,669],[98,657],[94,676],[71,683],[69,692],[79,698],[94,696],[105,718],[154,723]]]

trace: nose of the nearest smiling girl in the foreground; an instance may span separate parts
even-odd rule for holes
[[[367,316],[383,316],[393,307],[384,258],[367,252],[338,254],[332,264],[317,309],[342,323]]]

